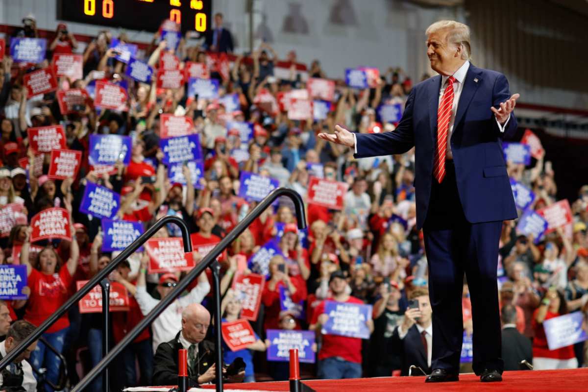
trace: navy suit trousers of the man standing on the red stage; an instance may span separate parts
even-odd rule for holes
[[[496,270],[502,221],[469,223],[457,192],[453,161],[442,183],[433,179],[423,227],[433,309],[432,368],[459,373],[465,273],[472,300],[473,370],[503,371]]]

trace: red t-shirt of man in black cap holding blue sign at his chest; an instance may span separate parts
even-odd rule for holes
[[[333,301],[333,299],[329,299]],[[320,314],[325,313],[325,303],[322,301],[319,306],[316,307],[314,314],[312,315],[312,323],[316,324],[319,320]],[[356,303],[363,305],[363,301],[349,296],[349,299],[345,303]],[[341,357],[346,361],[362,363],[362,340],[359,337],[348,337],[339,335],[323,335],[323,345],[320,347],[319,360],[323,360],[330,357]]]

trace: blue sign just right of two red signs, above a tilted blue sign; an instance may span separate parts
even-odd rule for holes
[[[114,165],[117,160],[131,163],[131,136],[90,135],[90,165]]]

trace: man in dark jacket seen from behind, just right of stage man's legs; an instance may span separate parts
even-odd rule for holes
[[[500,312],[502,322],[502,360],[505,370],[529,370],[520,366],[522,360],[533,363],[533,347],[528,337],[516,329],[516,307],[505,305]]]

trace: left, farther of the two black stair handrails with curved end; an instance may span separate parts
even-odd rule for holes
[[[35,340],[39,339],[39,337],[41,337],[41,335],[44,334],[45,331],[48,330],[49,327],[51,327],[51,325],[59,319],[59,317],[63,316],[70,307],[74,305],[78,306],[78,301],[81,300],[83,296],[88,294],[93,289],[93,287],[96,286],[96,284],[99,284],[102,279],[108,276],[108,274],[110,274],[116,268],[116,266],[118,266],[118,263],[122,262],[122,260],[128,259],[131,254],[135,253],[135,250],[139,249],[139,247],[141,247],[141,245],[146,242],[146,240],[151,238],[153,234],[158,232],[158,230],[161,229],[163,225],[167,225],[168,223],[175,223],[179,226],[179,228],[182,230],[184,251],[192,252],[190,231],[188,230],[186,222],[184,222],[178,216],[171,215],[159,219],[157,222],[155,222],[155,225],[149,227],[145,233],[141,234],[138,239],[134,240],[110,263],[106,264],[106,267],[104,267],[101,272],[95,274],[94,277],[88,281],[88,283],[84,284],[83,287],[78,290],[78,292],[76,292],[70,299],[65,301],[65,303],[55,311],[55,313],[51,314],[51,316],[49,316],[47,320],[38,326],[32,334],[21,341],[21,343],[16,346],[14,350],[6,354],[6,356],[0,360],[0,371],[4,370],[6,366],[8,366],[16,357],[19,356],[19,354],[22,353],[22,351],[25,351],[26,348],[31,346]]]

